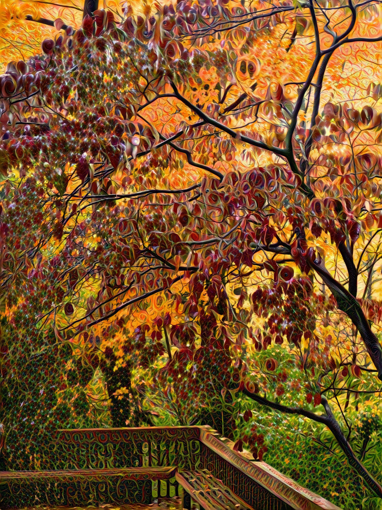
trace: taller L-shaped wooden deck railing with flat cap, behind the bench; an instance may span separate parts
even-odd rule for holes
[[[94,483],[97,494],[100,494],[101,488],[106,495],[116,498],[118,493],[122,494],[124,487],[122,484],[118,489],[121,480],[126,480],[126,475],[123,478],[122,473],[116,472],[122,468],[126,471],[135,468],[137,471],[122,491],[123,504],[147,503],[153,497],[179,494],[173,471],[169,471],[168,476],[163,474],[163,468],[175,467],[180,473],[207,469],[255,510],[338,510],[337,506],[299,486],[266,463],[251,461],[248,455],[234,451],[231,446],[214,430],[200,426],[58,430],[50,444],[43,446],[46,462],[40,466],[44,472],[40,472],[40,476],[38,472],[25,473],[22,477],[16,473],[0,473],[0,489],[3,489],[0,492],[7,493],[6,497],[10,498],[8,505],[3,496],[0,507],[27,506],[23,503],[30,498],[25,497],[25,491],[33,493],[34,484],[39,486],[38,494],[46,491],[51,494],[53,488],[47,481],[49,476],[53,476],[56,489],[57,480],[60,480],[58,504],[71,501],[69,496],[74,493],[76,504],[89,504],[89,498],[95,497],[91,489],[95,487]],[[144,468],[147,468],[146,471]],[[46,475],[51,470],[61,473]],[[94,470],[94,473],[87,478],[78,472],[73,478],[68,475],[68,470]],[[44,489],[44,479],[48,489]],[[93,480],[93,486],[89,479]],[[83,501],[80,501],[81,498]],[[38,504],[38,500],[31,503]],[[51,504],[44,497],[41,503]]]

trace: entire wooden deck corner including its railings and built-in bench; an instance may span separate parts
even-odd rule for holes
[[[0,472],[0,508],[216,510],[219,486],[245,508],[341,510],[232,446],[202,426],[60,429],[44,445],[43,469]],[[181,483],[182,473],[204,471],[216,480],[216,487],[207,484],[208,504],[209,493],[201,501],[200,488]]]

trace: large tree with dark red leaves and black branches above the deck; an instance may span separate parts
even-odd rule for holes
[[[325,425],[382,497],[344,414],[382,380],[380,86],[357,60],[376,72],[379,4],[93,14],[1,77],[8,313],[84,356],[98,337],[94,366],[113,335],[138,365],[165,350],[167,392],[185,360],[220,351],[236,364],[222,396]],[[275,343],[299,375],[265,357]]]

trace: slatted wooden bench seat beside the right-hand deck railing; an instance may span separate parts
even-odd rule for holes
[[[253,510],[206,470],[177,472],[175,478],[183,490],[204,510]],[[184,498],[183,506],[191,508],[189,498]]]

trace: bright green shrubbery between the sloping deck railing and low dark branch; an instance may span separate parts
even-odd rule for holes
[[[340,508],[380,510],[380,499],[373,497],[363,479],[351,469],[324,425],[307,418],[266,410],[246,398],[238,400],[238,407],[240,416],[236,421],[235,438],[244,438],[244,448],[252,451],[255,458],[262,449],[263,462]],[[243,416],[248,410],[251,410],[252,418],[246,422]],[[351,418],[355,421],[356,414],[353,413]],[[382,426],[380,419],[372,417],[371,410],[362,415],[360,423],[364,426],[373,423],[378,430]],[[360,432],[357,430],[360,430],[359,426],[354,428],[350,444],[359,453]],[[364,465],[368,470],[381,472],[382,446],[376,435],[373,450],[374,455],[365,457]]]

